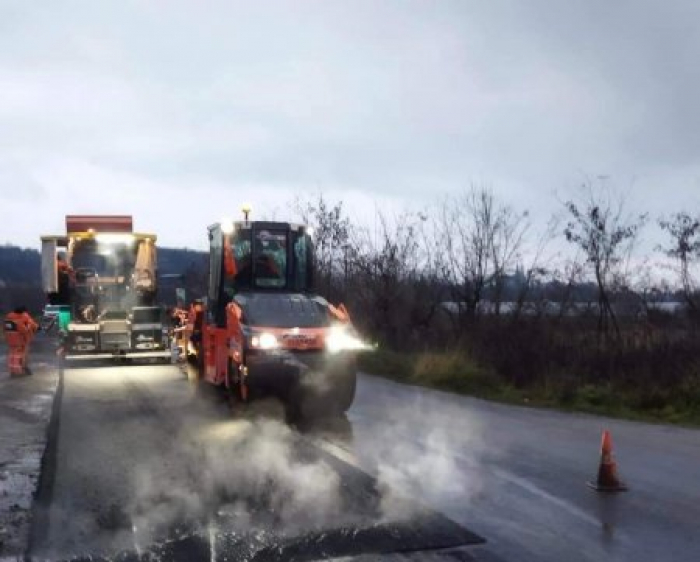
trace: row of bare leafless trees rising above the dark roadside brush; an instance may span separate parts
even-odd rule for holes
[[[622,304],[643,322],[650,303],[669,293],[683,300],[690,318],[700,305],[693,275],[700,218],[679,211],[657,219],[665,241],[654,253],[668,259],[656,265],[649,256],[635,259],[651,221],[628,213],[625,203],[614,191],[586,184],[539,233],[527,210],[479,186],[420,212],[377,210],[373,227],[357,225],[342,201],[323,195],[298,200],[296,209],[315,229],[318,289],[349,303],[373,337],[394,347],[430,343],[436,321],[448,322],[448,339],[459,340],[478,327],[485,304],[489,316],[503,316],[506,297],[510,321],[545,301],[565,316],[586,283],[595,287],[596,336],[611,345],[623,338]],[[659,268],[673,269],[675,287],[654,281]]]

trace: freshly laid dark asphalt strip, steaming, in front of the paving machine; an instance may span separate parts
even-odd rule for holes
[[[346,418],[305,430],[174,366],[66,369],[32,558],[472,560],[479,537],[353,466]]]

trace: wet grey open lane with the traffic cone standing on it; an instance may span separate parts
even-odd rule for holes
[[[700,560],[698,430],[505,406],[369,376],[349,421],[359,465],[487,537],[488,552],[506,560]],[[603,429],[628,492],[586,486]]]

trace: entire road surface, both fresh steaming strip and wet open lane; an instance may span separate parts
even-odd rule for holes
[[[295,429],[275,404],[232,418],[171,366],[71,369],[64,382],[38,558],[126,560],[156,544],[182,560],[700,559],[695,430],[366,375],[346,419]],[[586,486],[603,429],[628,492]],[[488,543],[456,548],[474,538],[465,529]]]

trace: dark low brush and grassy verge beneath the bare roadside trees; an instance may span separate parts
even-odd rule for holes
[[[585,334],[521,334],[482,334],[483,345],[474,338],[444,351],[380,349],[361,356],[360,366],[400,382],[501,402],[700,425],[700,354],[692,338],[601,349]]]

